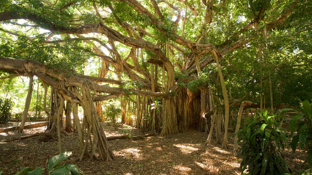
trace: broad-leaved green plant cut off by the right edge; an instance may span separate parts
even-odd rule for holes
[[[293,136],[291,142],[291,149],[293,152],[296,151],[298,143],[299,147],[302,149],[307,148],[307,167],[312,168],[312,108],[311,104],[305,100],[302,102],[300,109],[296,110],[298,115],[294,116],[290,121],[289,129],[291,135],[297,131],[297,135]],[[303,111],[303,113],[301,112]],[[299,120],[299,122],[298,122]],[[297,124],[298,123],[298,124]],[[296,127],[297,126],[297,127]]]

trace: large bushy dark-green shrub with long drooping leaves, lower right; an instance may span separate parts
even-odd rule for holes
[[[247,119],[246,125],[239,130],[238,142],[241,148],[237,158],[241,160],[241,170],[249,174],[285,174],[290,169],[281,150],[288,145],[285,129],[280,127],[282,120],[276,120],[268,111]]]

